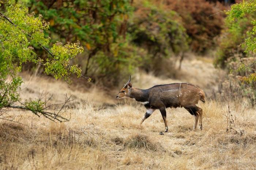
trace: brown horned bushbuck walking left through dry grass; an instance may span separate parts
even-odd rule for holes
[[[147,111],[143,116],[140,125],[146,120],[156,109],[159,109],[163,121],[165,122],[165,132],[168,131],[166,122],[166,108],[184,107],[191,115],[195,117],[193,130],[196,129],[199,119],[199,126],[202,130],[202,108],[196,106],[199,100],[205,102],[205,94],[202,89],[189,83],[172,83],[156,85],[148,89],[139,89],[132,87],[131,76],[128,82],[120,90],[116,96],[117,99],[132,98],[137,102],[144,104]]]

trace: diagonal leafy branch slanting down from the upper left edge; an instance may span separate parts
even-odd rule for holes
[[[12,15],[13,17],[18,17],[15,13],[22,13],[24,16],[28,15],[28,9],[24,8],[20,9],[20,5],[16,5],[15,7],[10,7],[10,13],[9,15]],[[38,34],[34,33],[35,31],[41,32],[41,30],[45,30],[49,28],[49,25],[46,24],[46,22],[43,20],[40,22],[40,18],[42,17],[39,15],[38,18],[35,18],[33,15],[30,15],[31,17],[35,18],[35,20],[28,19],[29,21],[34,21],[30,23],[30,25],[33,24],[38,24],[37,27],[29,27],[27,30],[29,31],[24,31],[22,29],[22,26],[19,27],[19,25],[13,23],[7,16],[5,16],[3,13],[0,12],[0,15],[4,17],[7,21],[9,21],[12,25],[15,27],[18,27],[21,29],[24,33],[26,33],[33,41],[38,43],[45,51],[52,56],[52,60],[50,61],[49,58],[46,59],[46,63],[43,63],[42,65],[45,66],[45,73],[46,74],[53,74],[54,78],[59,79],[59,78],[64,78],[66,81],[69,81],[69,72],[76,74],[78,77],[81,76],[81,68],[79,68],[77,65],[70,66],[70,59],[74,58],[78,53],[83,52],[83,47],[80,46],[80,42],[78,41],[77,43],[68,43],[63,46],[62,43],[57,42],[56,44],[53,44],[53,47],[49,50],[46,48],[43,44],[48,43],[48,39],[44,38],[44,34]],[[20,15],[19,15],[20,17]],[[20,21],[22,22],[22,21]],[[20,24],[21,25],[21,24]],[[22,24],[24,25],[24,24]],[[33,35],[30,35],[28,32],[33,32]],[[37,39],[40,39],[42,43],[37,41]],[[52,52],[50,52],[52,51]],[[42,59],[37,59],[37,63],[43,62]],[[86,78],[87,80],[91,81],[91,78],[83,76],[83,78]]]

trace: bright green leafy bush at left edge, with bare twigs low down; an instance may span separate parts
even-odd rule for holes
[[[28,12],[28,8],[21,5],[8,6],[5,14],[0,12],[0,119],[13,121],[6,119],[10,118],[6,111],[8,108],[18,108],[29,110],[52,121],[69,120],[62,115],[67,103],[71,102],[71,96],[66,96],[65,102],[60,104],[50,104],[51,97],[47,100],[45,97],[43,100],[42,94],[38,99],[20,101],[19,89],[23,81],[19,72],[22,71],[23,63],[42,65],[46,74],[51,74],[56,79],[63,78],[67,82],[70,82],[71,73],[78,77],[82,76],[77,65],[70,65],[70,60],[83,52],[79,41],[65,45],[57,42],[52,48],[46,48],[45,46],[49,44],[49,38],[45,38],[44,34],[46,29],[49,29],[49,24],[41,15],[35,17]],[[49,54],[45,60],[39,58],[34,51],[33,46],[38,45]],[[4,116],[5,114],[7,116]]]

